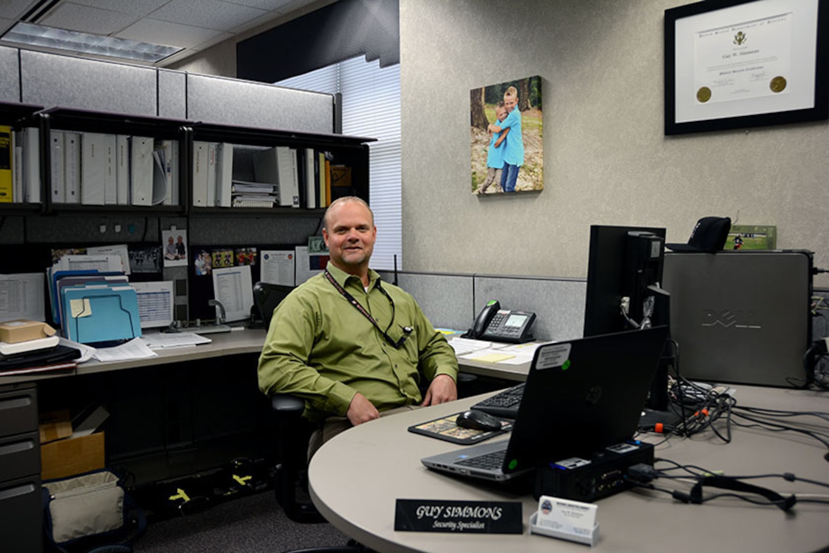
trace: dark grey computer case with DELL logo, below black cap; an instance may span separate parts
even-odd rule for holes
[[[665,255],[671,337],[681,376],[795,386],[812,337],[812,253],[720,251]]]

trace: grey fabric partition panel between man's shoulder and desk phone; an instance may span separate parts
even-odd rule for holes
[[[381,274],[394,282],[391,273]],[[398,273],[397,284],[414,296],[435,327],[466,330],[472,324],[472,275]]]

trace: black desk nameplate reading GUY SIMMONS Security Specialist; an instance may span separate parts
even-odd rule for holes
[[[521,502],[398,499],[395,531],[521,534]]]

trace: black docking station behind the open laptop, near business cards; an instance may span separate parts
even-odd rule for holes
[[[653,445],[630,440],[611,445],[589,458],[571,457],[549,463],[536,471],[533,495],[594,502],[633,488],[624,478],[637,463],[653,464]]]

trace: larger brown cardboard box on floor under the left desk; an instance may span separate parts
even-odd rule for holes
[[[41,445],[41,480],[65,478],[99,468],[104,468],[103,432]]]

